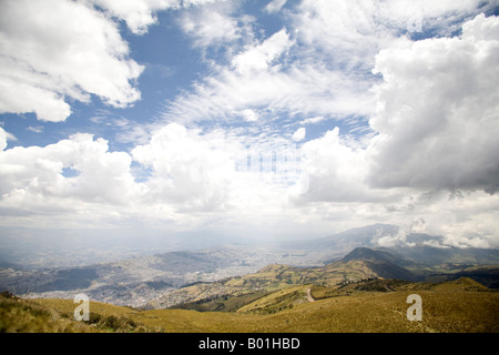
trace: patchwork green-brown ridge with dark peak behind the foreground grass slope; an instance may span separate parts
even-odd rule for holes
[[[464,265],[464,268],[459,272],[448,271],[447,273],[429,272],[429,266],[425,266],[421,273],[418,267],[407,268],[397,264],[397,262],[403,261],[414,266],[410,260],[387,251],[357,247],[343,258],[319,267],[271,264],[253,274],[227,277],[211,283],[194,283],[163,294],[154,298],[147,306],[149,308],[180,307],[196,311],[234,311],[234,304],[259,298],[265,294],[277,291],[284,292],[293,286],[314,285],[336,288],[376,280],[435,283],[467,276],[488,287],[499,286],[499,265]],[[452,265],[457,267],[456,264]]]

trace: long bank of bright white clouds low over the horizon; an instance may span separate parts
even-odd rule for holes
[[[3,225],[96,227],[142,221],[149,226],[213,227],[236,234],[247,233],[251,225],[277,235],[306,231],[310,224],[317,233],[332,233],[376,222],[404,226],[420,219],[426,224],[418,231],[444,235],[446,244],[497,245],[498,195],[373,190],[363,180],[369,168],[366,152],[348,148],[337,129],[303,143],[299,166],[289,165],[298,155],[278,156],[282,149],[289,153],[292,142],[262,140],[252,150],[246,143],[245,136],[230,131],[187,130],[172,123],[131,154],[110,152],[106,141],[89,134],[44,148],[4,150]],[[262,171],[262,154],[272,150],[276,165],[288,164],[274,171],[274,160],[266,155],[263,165],[269,165]],[[247,156],[256,162],[248,170]],[[141,166],[132,169],[133,161]],[[237,163],[243,165],[236,169]],[[289,174],[296,168],[308,180]],[[133,170],[142,174],[141,182]]]

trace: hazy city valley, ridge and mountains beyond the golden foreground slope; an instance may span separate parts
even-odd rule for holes
[[[294,285],[333,287],[369,278],[442,282],[461,276],[499,287],[499,251],[458,248],[409,234],[379,245],[398,227],[376,224],[277,246],[223,245],[135,256],[78,267],[0,268],[0,291],[30,298],[91,300],[162,308],[220,297],[252,298]],[[438,246],[436,246],[438,245]]]

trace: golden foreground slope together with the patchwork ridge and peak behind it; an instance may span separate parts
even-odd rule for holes
[[[440,274],[447,277],[444,282],[415,281],[398,264],[403,262],[387,251],[358,247],[324,266],[269,264],[247,275],[185,285],[155,298],[149,308],[92,301],[90,322],[73,320],[72,300],[23,300],[4,293],[0,331],[499,332],[498,292],[456,273]],[[495,271],[472,266],[468,274],[493,278]],[[422,298],[422,322],[406,316],[407,296],[415,293]]]

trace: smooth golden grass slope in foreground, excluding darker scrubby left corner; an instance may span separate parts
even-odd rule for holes
[[[410,287],[407,284],[400,285],[396,292],[366,291],[350,295],[335,295],[316,302],[293,300],[297,295],[303,295],[305,287],[292,287],[282,294],[278,292],[274,294],[272,296],[274,301],[287,302],[293,304],[293,307],[284,307],[284,311],[277,310],[272,314],[255,314],[244,310],[237,313],[185,310],[139,312],[96,302],[91,303],[90,311],[102,316],[119,315],[131,318],[151,329],[161,327],[164,332],[181,333],[499,332],[499,293],[490,292],[471,280],[416,287],[419,290],[410,290],[415,288],[414,285]],[[406,312],[409,304],[406,300],[411,293],[417,293],[422,298],[421,322],[407,321]],[[289,301],[286,294],[293,301]],[[256,302],[263,302],[264,298]],[[273,303],[271,298],[267,300],[266,307],[278,304]],[[37,303],[63,313],[74,310],[71,301],[38,300]]]

